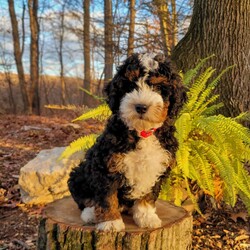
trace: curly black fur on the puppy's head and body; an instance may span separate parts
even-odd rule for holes
[[[139,54],[133,54],[117,68],[114,78],[105,87],[107,103],[113,115],[107,122],[103,134],[97,139],[95,145],[90,148],[85,156],[85,160],[73,169],[68,181],[69,190],[82,210],[87,206],[87,202],[93,201],[103,208],[108,208],[111,204],[107,198],[117,192],[119,204],[131,207],[134,200],[128,199],[127,194],[131,187],[127,185],[125,176],[119,171],[111,171],[108,163],[114,154],[126,154],[136,149],[136,145],[141,140],[135,130],[129,130],[119,115],[119,107],[122,98],[138,86],[136,82],[146,73],[147,84],[152,86],[163,100],[169,103],[168,113],[163,125],[155,132],[162,148],[169,151],[172,156],[178,148],[178,143],[174,137],[174,118],[186,101],[186,90],[181,83],[179,75],[174,71],[170,62],[162,56],[156,56],[159,68],[146,72],[140,63]],[[164,77],[164,81],[157,82],[157,79]],[[156,83],[153,83],[153,80]],[[155,186],[152,187],[152,199],[156,200],[162,181],[168,176],[169,169],[159,178]]]

